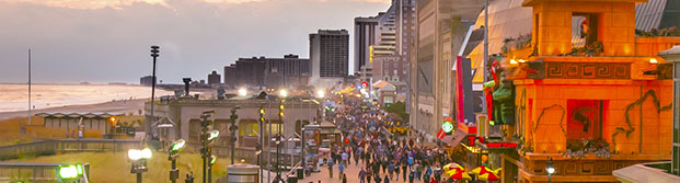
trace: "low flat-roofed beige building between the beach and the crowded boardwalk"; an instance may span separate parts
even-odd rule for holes
[[[284,101],[285,116],[279,119],[279,103],[283,100],[274,95],[269,95],[268,100],[256,96],[235,96],[226,100],[164,98],[154,106],[154,123],[152,123],[154,127],[150,133],[157,134],[163,141],[185,139],[189,144],[199,144],[200,115],[203,112],[212,110],[215,114],[210,118],[214,121],[214,128],[221,134],[216,146],[226,147],[229,145],[231,110],[239,106],[240,110],[237,112],[239,119],[235,123],[239,126],[237,147],[253,148],[257,141],[256,134],[260,133],[260,107],[265,110],[264,117],[267,123],[264,126],[265,137],[276,134],[279,125],[283,126],[283,134],[286,137],[295,133],[300,134],[299,129],[303,125],[314,122],[316,110],[320,107],[319,102],[314,100],[286,99]],[[150,110],[150,103],[147,103],[145,107],[147,122],[151,121]]]

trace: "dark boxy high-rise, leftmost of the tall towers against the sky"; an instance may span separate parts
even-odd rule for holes
[[[312,78],[344,78],[349,65],[346,30],[319,30],[309,35]]]

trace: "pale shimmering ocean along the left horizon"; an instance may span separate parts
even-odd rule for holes
[[[36,110],[151,98],[151,88],[141,85],[33,84],[31,88],[32,105]],[[157,96],[169,94],[173,92],[155,89]],[[26,110],[28,110],[27,84],[0,84],[0,112]]]

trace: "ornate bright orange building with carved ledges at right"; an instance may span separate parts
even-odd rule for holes
[[[531,44],[509,50],[518,153],[503,153],[504,182],[618,182],[612,171],[670,160],[671,65],[656,56],[680,37],[636,36],[646,0],[525,0]],[[507,80],[506,80],[507,81]]]

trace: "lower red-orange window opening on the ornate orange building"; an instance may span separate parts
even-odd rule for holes
[[[580,139],[602,138],[604,101],[567,100],[567,147]]]

